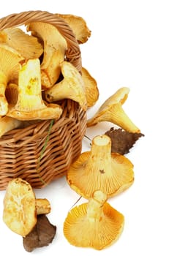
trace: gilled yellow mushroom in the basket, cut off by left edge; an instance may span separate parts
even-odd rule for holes
[[[0,43],[0,116],[7,114],[6,86],[8,82],[18,80],[19,61],[21,60],[23,57],[16,50]]]

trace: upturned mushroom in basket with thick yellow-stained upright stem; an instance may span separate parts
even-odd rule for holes
[[[10,106],[7,116],[19,120],[59,118],[61,106],[45,105],[42,100],[39,59],[23,61],[18,79],[18,101]]]

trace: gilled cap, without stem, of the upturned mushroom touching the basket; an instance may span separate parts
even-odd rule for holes
[[[95,190],[102,190],[113,197],[133,184],[133,165],[127,157],[112,153],[109,170],[99,170],[94,164],[92,169],[86,169],[89,157],[90,151],[83,152],[67,171],[67,182],[79,195],[90,198]]]

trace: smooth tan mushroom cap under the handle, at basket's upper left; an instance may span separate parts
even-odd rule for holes
[[[24,59],[36,59],[43,53],[43,46],[36,37],[26,34],[20,28],[0,31],[0,42],[5,42],[23,56]]]

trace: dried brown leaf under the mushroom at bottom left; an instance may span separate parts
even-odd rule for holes
[[[23,237],[23,246],[27,252],[32,252],[38,247],[48,246],[56,235],[56,226],[52,225],[45,214],[37,216],[37,225]]]

